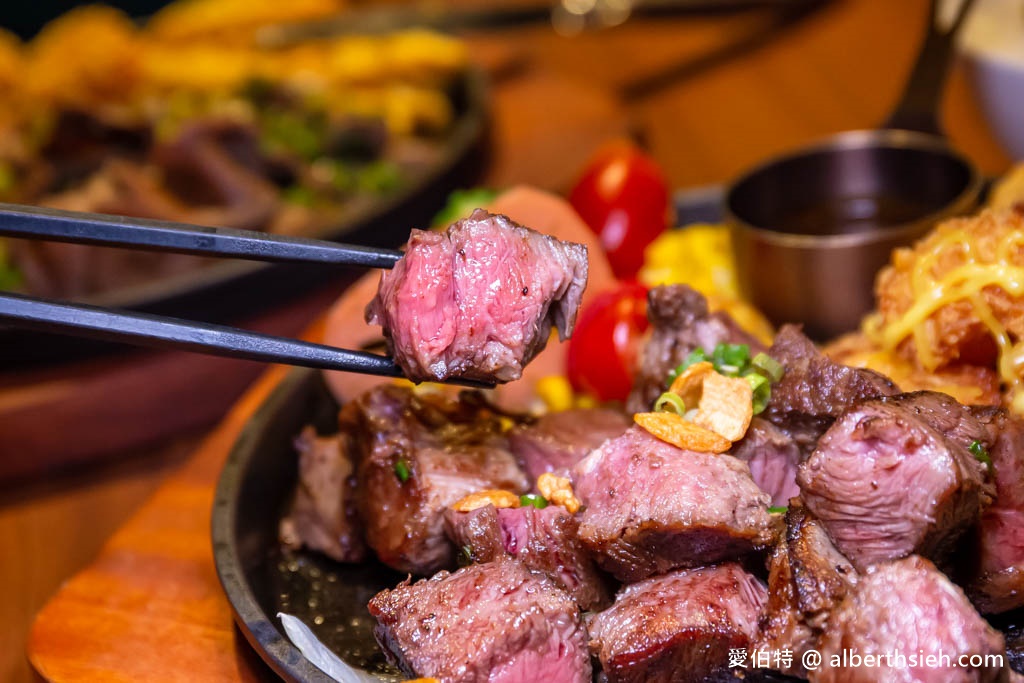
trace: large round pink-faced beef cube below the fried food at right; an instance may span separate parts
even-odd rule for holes
[[[939,421],[925,402],[950,415]],[[958,440],[959,427],[936,428],[961,425],[966,412],[931,392],[866,400],[800,466],[805,504],[858,570],[910,553],[941,561],[978,520],[989,501],[985,466]]]

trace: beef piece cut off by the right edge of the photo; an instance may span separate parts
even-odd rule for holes
[[[995,501],[978,523],[977,567],[968,595],[983,613],[1024,606],[1024,420],[975,409],[989,432]]]

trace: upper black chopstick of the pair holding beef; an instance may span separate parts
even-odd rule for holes
[[[401,252],[166,220],[0,204],[0,236],[276,263],[390,268]]]

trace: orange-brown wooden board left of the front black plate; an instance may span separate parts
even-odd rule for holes
[[[189,461],[36,617],[29,658],[51,681],[276,680],[234,629],[210,546],[217,476],[273,368]]]

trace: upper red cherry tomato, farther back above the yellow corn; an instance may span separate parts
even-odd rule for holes
[[[602,147],[569,193],[569,203],[601,240],[611,269],[621,279],[636,275],[644,248],[668,224],[665,175],[630,142]]]

